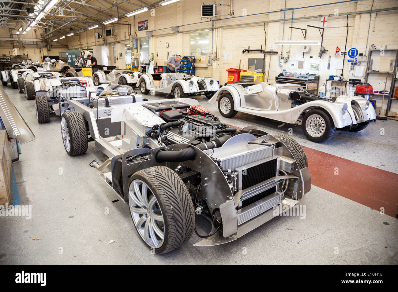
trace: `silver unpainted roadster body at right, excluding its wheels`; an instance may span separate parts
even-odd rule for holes
[[[263,91],[249,94],[248,89],[242,84],[228,84],[221,87],[209,100],[215,103],[224,93],[229,93],[234,101],[234,109],[239,112],[262,116],[289,124],[301,124],[300,118],[310,109],[322,108],[330,114],[336,128],[357,125],[360,122],[367,122],[376,119],[376,112],[369,102],[361,97],[339,96],[335,102],[330,101],[307,101],[303,104],[291,107],[291,101],[283,98],[283,91],[302,91],[302,88],[295,84],[269,84],[260,83]],[[342,110],[347,104],[347,111]],[[361,118],[357,118],[351,104],[357,104],[361,109]],[[366,108],[366,109],[365,109]]]

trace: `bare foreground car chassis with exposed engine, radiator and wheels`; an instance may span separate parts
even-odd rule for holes
[[[194,231],[202,239],[196,246],[234,241],[310,191],[306,155],[289,136],[227,126],[194,99],[107,99],[69,102],[64,147],[80,155],[94,141],[109,157],[90,166],[127,203],[139,238],[156,253]],[[209,234],[199,233],[195,213],[209,220]]]

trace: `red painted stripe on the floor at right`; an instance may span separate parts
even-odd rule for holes
[[[396,217],[398,174],[304,147],[311,184]],[[338,174],[335,174],[338,168]]]

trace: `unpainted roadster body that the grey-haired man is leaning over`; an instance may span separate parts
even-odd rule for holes
[[[139,84],[142,81],[145,82],[146,89],[162,93],[172,93],[178,84],[187,95],[206,95],[220,89],[219,83],[213,78],[200,78],[184,73],[146,73],[141,75]]]

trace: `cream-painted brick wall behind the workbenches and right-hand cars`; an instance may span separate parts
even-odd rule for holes
[[[228,4],[228,0],[217,0],[217,4]],[[308,1],[286,1],[286,8],[299,8],[310,5],[321,5],[334,2],[332,0],[320,0],[317,2]],[[377,0],[373,4],[373,10],[382,8],[395,7],[396,1],[394,0]],[[233,11],[234,15],[232,19],[224,19],[220,21],[214,21],[213,23],[209,19],[201,19],[200,17],[200,6],[203,4],[202,1],[189,1],[181,0],[174,4],[169,4],[167,6],[156,8],[153,12],[145,12],[139,15],[124,18],[123,21],[128,21],[132,24],[132,34],[138,38],[146,37],[146,31],[137,31],[137,22],[141,20],[149,20],[149,31],[154,31],[154,37],[150,37],[150,53],[154,53],[154,61],[158,64],[163,64],[166,61],[167,50],[172,50],[174,53],[180,51],[182,56],[190,55],[190,33],[173,33],[170,29],[171,26],[179,26],[179,31],[189,31],[189,30],[201,30],[213,26],[226,26],[226,25],[236,25],[234,27],[224,27],[219,29],[214,29],[213,33],[210,30],[209,36],[213,40],[213,46],[210,41],[209,50],[213,52],[213,56],[216,53],[216,35],[218,30],[218,44],[217,44],[217,58],[220,60],[214,61],[215,68],[209,66],[208,68],[197,68],[196,75],[202,77],[214,77],[223,84],[227,81],[228,68],[238,68],[240,63],[240,68],[248,69],[248,58],[262,58],[263,54],[258,53],[245,53],[242,54],[244,48],[257,49],[263,46],[265,43],[265,31],[267,33],[267,41],[265,50],[269,50],[269,44],[274,43],[275,40],[281,40],[282,35],[284,40],[289,40],[290,29],[292,26],[291,21],[276,21],[278,19],[284,18],[284,12],[269,13],[269,14],[259,14],[263,12],[273,12],[285,8],[285,1],[271,1],[271,0],[234,0],[233,1]],[[308,66],[310,61],[318,60],[321,62],[327,62],[328,57],[331,56],[335,58],[336,46],[344,46],[345,38],[347,32],[347,16],[341,15],[349,12],[361,12],[364,10],[370,10],[372,6],[372,0],[362,0],[358,2],[347,2],[342,4],[324,5],[312,8],[295,9],[293,11],[293,17],[310,17],[311,19],[294,20],[293,27],[306,28],[306,25],[321,26],[320,17],[317,15],[330,15],[328,17],[328,25],[324,30],[324,40],[323,45],[328,50],[322,56],[318,58],[318,52],[320,46],[312,46],[310,53],[305,54],[304,59],[307,64],[307,68],[304,70],[294,70],[290,69],[290,64],[296,61],[296,51],[298,46],[291,46],[290,48],[290,59],[289,62],[283,64],[283,67],[279,67],[279,57],[277,55],[272,55],[271,59],[266,56],[266,71],[269,69],[269,81],[273,81],[275,76],[282,72],[283,69],[287,71],[308,72]],[[254,16],[242,16],[244,13],[259,14]],[[217,6],[217,14],[228,14],[228,6]],[[219,16],[213,19],[221,19],[230,17],[229,15]],[[285,12],[285,19],[292,17],[292,10],[287,10]],[[244,23],[261,22],[261,21],[271,21],[265,23],[265,31],[263,23],[255,25],[244,25]],[[199,22],[199,23],[198,23]],[[396,23],[398,22],[398,14],[395,11],[389,12],[377,12],[372,14],[372,19],[370,23],[369,31],[369,41],[368,46],[365,51],[365,46],[367,42],[368,28],[369,28],[369,13],[368,14],[356,14],[348,16],[348,38],[347,47],[355,46],[359,49],[359,52],[363,52],[367,55],[367,50],[371,44],[377,45],[377,48],[381,48],[388,45],[388,48],[398,48],[398,38],[396,37]],[[197,24],[191,24],[197,23]],[[189,25],[188,25],[189,24]],[[107,28],[112,28],[112,25],[107,26]],[[127,25],[115,25],[115,31],[117,36],[115,39],[107,37],[103,40],[95,40],[94,32],[100,32],[105,34],[102,29],[93,29],[90,31],[85,31],[80,35],[75,35],[73,37],[67,38],[69,48],[91,48],[93,45],[100,45],[104,43],[117,42],[123,39],[129,38],[129,31]],[[167,35],[164,35],[167,34]],[[300,40],[303,39],[302,34],[298,30],[293,30],[291,39]],[[307,40],[320,39],[320,34],[317,29],[308,29]],[[170,44],[169,48],[166,49],[165,43]],[[124,43],[124,41],[123,41]],[[123,47],[123,46],[122,46]],[[277,46],[276,51],[279,53],[283,52],[286,56],[289,50],[289,46]],[[224,53],[232,53],[232,60],[224,60]],[[386,53],[387,55],[387,53]],[[310,58],[312,57],[312,58]],[[337,58],[343,59],[342,56]],[[381,58],[382,59],[382,58]],[[270,64],[269,64],[270,62]],[[387,66],[390,62],[389,58],[386,60],[381,60],[380,66]],[[344,65],[343,77],[347,78],[349,72],[349,64],[346,62]],[[341,70],[337,70],[336,74],[340,74]],[[319,90],[324,90],[322,85],[325,83],[325,79],[330,75],[329,70],[324,72],[319,72],[320,75],[320,86]],[[265,75],[265,79],[267,79]],[[358,77],[359,78],[359,77]],[[378,86],[384,84],[382,81],[382,76],[372,77],[371,83],[373,87],[378,89]],[[388,85],[389,86],[389,85]],[[388,87],[387,86],[387,87]]]

